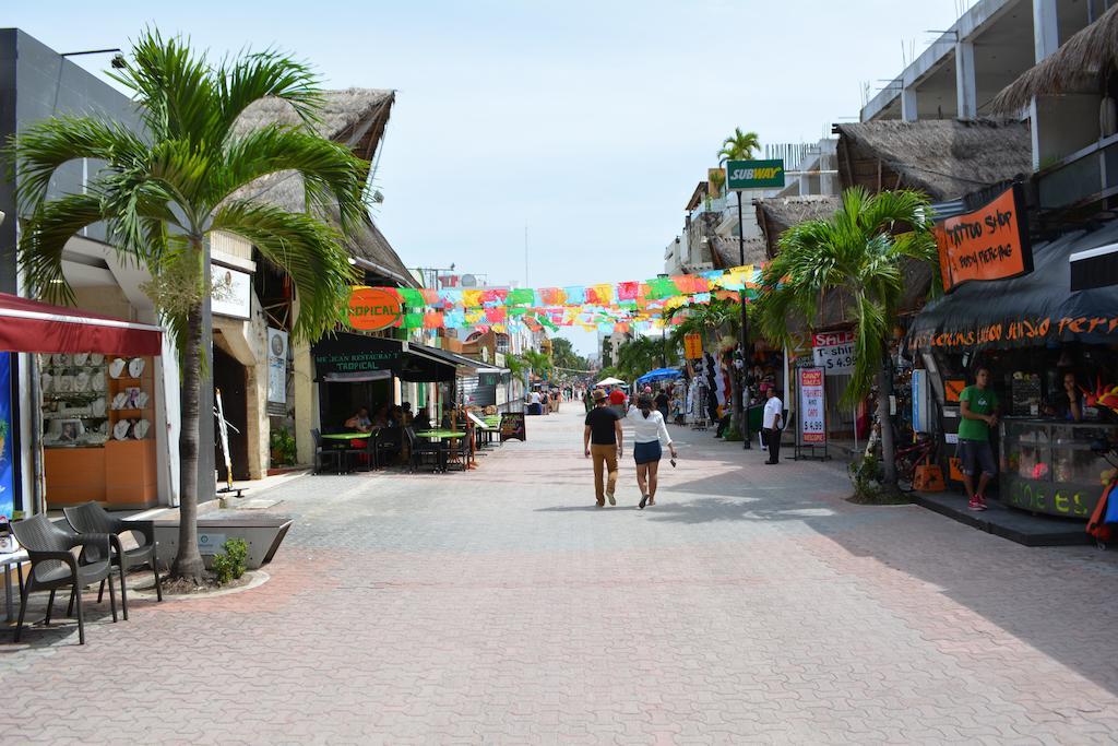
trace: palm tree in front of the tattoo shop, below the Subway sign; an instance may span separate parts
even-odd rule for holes
[[[757,304],[764,334],[790,344],[790,320],[811,327],[824,295],[836,294],[842,300],[843,317],[854,322],[855,353],[842,402],[851,406],[865,398],[877,378],[888,484],[897,482],[893,432],[888,426],[892,383],[888,336],[904,291],[906,265],[918,261],[938,268],[931,227],[928,198],[920,192],[871,196],[861,187],[847,189],[831,219],[802,223],[780,236],[779,253],[765,268]],[[932,292],[938,287],[934,281]]]

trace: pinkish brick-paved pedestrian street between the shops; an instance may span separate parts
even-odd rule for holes
[[[481,468],[306,476],[264,586],[0,643],[11,743],[1083,743],[1115,557],[842,500],[709,433],[593,507],[580,405]],[[745,466],[742,466],[745,464]]]

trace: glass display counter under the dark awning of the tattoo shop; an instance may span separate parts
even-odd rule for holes
[[[1002,502],[1087,520],[1114,466],[1091,450],[1118,441],[1118,425],[1006,417],[1001,425]]]

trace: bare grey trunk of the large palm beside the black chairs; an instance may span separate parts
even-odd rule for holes
[[[201,390],[202,309],[187,313],[182,351],[182,426],[179,432],[179,554],[171,576],[201,580],[206,565],[198,551],[198,399]]]

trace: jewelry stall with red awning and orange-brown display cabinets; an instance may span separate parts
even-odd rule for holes
[[[46,507],[155,504],[161,350],[158,327],[0,294],[0,356],[32,369],[32,412],[18,417],[30,418],[34,442],[15,438],[28,457],[13,460],[41,474],[32,483]],[[21,509],[41,510],[36,502],[23,495]]]

